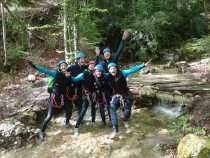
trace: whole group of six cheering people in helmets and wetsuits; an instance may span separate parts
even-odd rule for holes
[[[88,65],[86,65],[87,54],[83,51],[77,53],[75,64],[68,65],[65,60],[61,60],[56,70],[29,62],[33,68],[54,79],[52,89],[49,91],[48,113],[39,133],[41,139],[44,139],[46,127],[56,109],[64,109],[65,126],[70,126],[73,105],[78,109],[78,118],[74,128],[75,136],[79,135],[79,127],[88,107],[91,108],[93,124],[96,119],[96,106],[99,107],[102,125],[106,125],[106,121],[109,120],[113,129],[111,138],[116,137],[119,132],[117,109],[120,106],[123,109],[124,126],[129,127],[128,120],[131,115],[133,97],[129,92],[126,78],[147,66],[150,61],[129,69],[119,69],[118,59],[123,52],[124,40],[127,37],[128,32],[125,31],[114,54],[109,48],[102,51],[96,48],[96,59],[89,61]],[[108,119],[106,119],[106,113]]]

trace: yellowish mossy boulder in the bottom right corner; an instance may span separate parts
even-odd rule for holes
[[[210,138],[188,134],[179,142],[177,154],[178,158],[208,158]]]

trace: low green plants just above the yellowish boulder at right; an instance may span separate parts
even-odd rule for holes
[[[194,133],[196,135],[205,135],[206,131],[202,127],[192,127],[189,123],[189,115],[183,115],[178,119],[169,122],[168,128],[172,133],[188,134]]]

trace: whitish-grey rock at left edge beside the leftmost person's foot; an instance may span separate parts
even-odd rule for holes
[[[3,120],[0,122],[0,148],[20,147],[34,134],[34,129],[18,120],[12,118]]]

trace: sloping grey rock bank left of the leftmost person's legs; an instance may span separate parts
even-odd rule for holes
[[[8,85],[0,93],[0,119],[15,115],[25,109],[31,109],[37,114],[37,119],[42,119],[47,110],[48,97],[46,79],[33,83],[26,82],[24,85]]]

